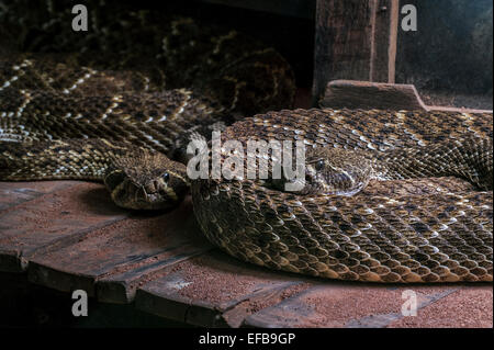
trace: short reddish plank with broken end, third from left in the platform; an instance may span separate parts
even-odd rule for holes
[[[214,250],[172,267],[137,290],[136,307],[204,327],[245,317],[308,287],[301,276],[243,263]]]

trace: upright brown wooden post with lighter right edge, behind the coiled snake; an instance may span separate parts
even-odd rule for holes
[[[317,0],[313,105],[330,80],[394,82],[398,0]]]

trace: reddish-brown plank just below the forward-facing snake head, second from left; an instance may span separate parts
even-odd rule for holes
[[[128,303],[135,287],[165,267],[211,249],[192,203],[169,213],[134,213],[83,239],[30,256],[30,280],[59,291],[85,290],[104,302]]]

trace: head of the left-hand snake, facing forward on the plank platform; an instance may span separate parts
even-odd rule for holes
[[[132,210],[172,208],[189,189],[186,166],[147,150],[116,158],[104,184],[116,205]]]

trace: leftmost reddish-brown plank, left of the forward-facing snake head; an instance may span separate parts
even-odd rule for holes
[[[57,249],[127,215],[99,183],[52,188],[0,212],[0,270],[22,272],[34,251]]]

